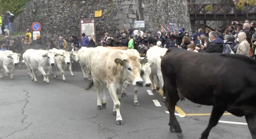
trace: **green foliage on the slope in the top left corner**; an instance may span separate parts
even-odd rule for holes
[[[17,17],[22,11],[24,6],[30,0],[0,0],[0,13],[11,12],[14,17]]]

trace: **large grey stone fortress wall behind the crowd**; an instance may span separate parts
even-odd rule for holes
[[[171,3],[171,4],[170,4]],[[134,27],[134,21],[146,22],[143,31],[154,32],[157,25],[165,27],[173,22],[175,29],[191,31],[187,2],[184,0],[31,0],[15,18],[15,32],[31,29],[34,22],[42,25],[44,40],[58,40],[58,36],[80,37],[79,20],[94,18],[94,11],[102,10],[96,18],[96,40],[105,32],[115,34]]]

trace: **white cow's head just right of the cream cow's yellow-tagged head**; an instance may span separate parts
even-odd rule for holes
[[[149,64],[141,64],[141,71],[140,71],[140,77],[143,79],[143,86],[144,87],[150,87],[151,86],[151,80],[150,80],[150,74],[151,74],[151,68],[154,65],[154,62]]]

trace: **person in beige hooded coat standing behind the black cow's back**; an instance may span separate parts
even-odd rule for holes
[[[246,40],[246,34],[244,32],[240,32],[238,33],[237,38],[240,44],[238,45],[236,54],[242,54],[250,57],[250,45]]]

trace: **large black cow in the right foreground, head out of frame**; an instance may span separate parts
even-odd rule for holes
[[[170,48],[162,57],[161,68],[171,132],[183,137],[174,110],[179,99],[187,98],[213,106],[209,124],[200,139],[207,139],[225,111],[245,116],[252,139],[256,139],[256,60],[239,54]]]

